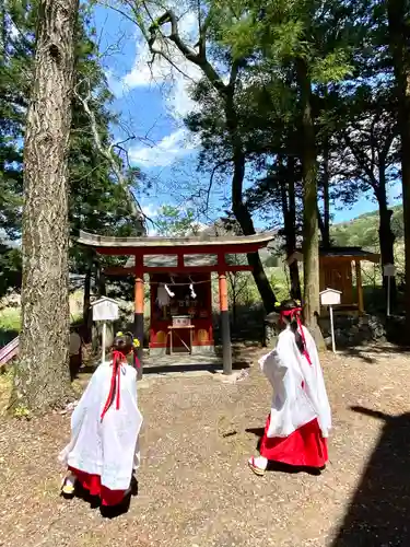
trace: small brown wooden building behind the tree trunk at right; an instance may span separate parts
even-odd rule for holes
[[[294,260],[303,261],[302,251],[296,249],[286,259],[288,265]],[[378,264],[380,255],[368,253],[361,247],[331,247],[319,249],[319,288],[336,289],[341,292],[339,311],[358,311],[364,313],[362,261]],[[353,279],[355,280],[355,290]]]

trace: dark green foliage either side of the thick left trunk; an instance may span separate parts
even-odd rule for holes
[[[128,193],[113,175],[113,164],[96,147],[96,129],[102,147],[113,148],[109,132],[116,118],[109,112],[113,96],[108,90],[99,60],[95,28],[91,24],[86,4],[80,10],[75,40],[75,93],[73,97],[72,131],[69,155],[70,225],[74,237],[80,229],[103,234],[131,235],[136,221]],[[21,234],[22,210],[22,140],[25,108],[28,103],[34,58],[34,30],[37,2],[5,0],[0,11],[2,56],[0,56],[0,229],[9,238]],[[96,127],[80,100],[87,97]],[[124,161],[110,152],[127,184],[139,189],[142,175],[139,170],[125,168]],[[70,247],[71,271],[83,274],[94,268],[95,257],[77,245]],[[98,267],[116,263],[102,259]],[[0,247],[0,295],[21,282],[19,249]]]

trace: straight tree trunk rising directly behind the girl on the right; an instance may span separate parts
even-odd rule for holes
[[[304,316],[316,344],[324,338],[317,323],[319,304],[319,229],[317,207],[317,154],[312,114],[312,85],[305,60],[297,60],[297,80],[302,106],[302,172],[303,172],[303,274]]]

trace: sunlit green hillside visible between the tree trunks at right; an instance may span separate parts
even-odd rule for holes
[[[403,211],[402,206],[391,208],[394,210],[391,228],[399,245],[403,238]],[[335,224],[331,230],[335,245],[360,246],[368,251],[378,252],[378,211],[372,211],[349,221]]]

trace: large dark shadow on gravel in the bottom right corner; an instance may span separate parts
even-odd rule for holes
[[[409,546],[410,414],[352,410],[382,420],[384,427],[331,547]]]

